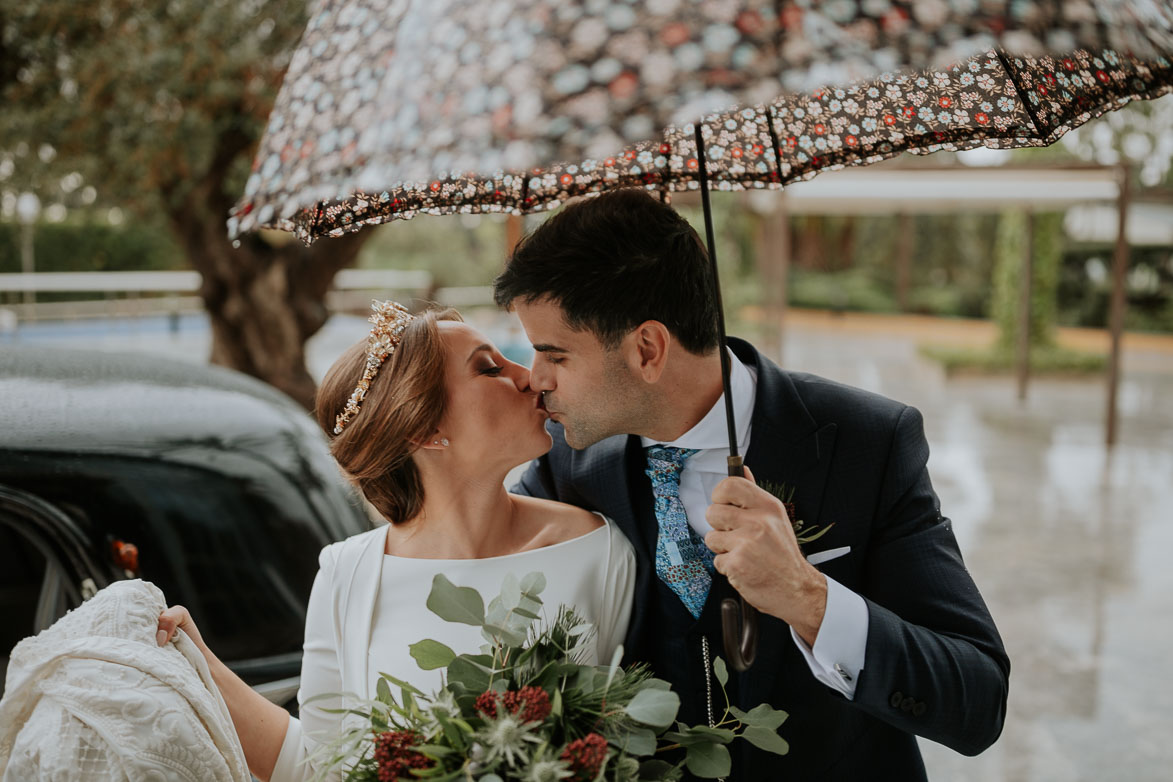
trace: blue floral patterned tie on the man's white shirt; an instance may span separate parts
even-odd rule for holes
[[[680,502],[680,470],[696,454],[691,448],[652,446],[647,449],[647,477],[656,498],[656,574],[679,596],[693,618],[700,617],[713,583],[713,552],[700,539]]]

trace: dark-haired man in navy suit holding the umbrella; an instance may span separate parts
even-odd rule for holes
[[[685,722],[724,713],[711,659],[727,584],[762,612],[757,661],[727,689],[788,712],[791,749],[738,742],[732,778],[904,782],[925,778],[914,736],[984,750],[1010,662],[941,515],[920,413],[731,339],[752,480],[726,478],[711,291],[696,232],[642,190],[570,205],[521,242],[495,295],[534,345],[554,447],[517,490],[630,538],[626,659],[672,684]],[[818,538],[799,543],[798,522]]]

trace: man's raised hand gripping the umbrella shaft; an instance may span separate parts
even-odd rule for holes
[[[827,579],[806,560],[786,506],[746,477],[717,484],[705,514],[713,565],[753,607],[778,617],[814,646],[827,608]]]

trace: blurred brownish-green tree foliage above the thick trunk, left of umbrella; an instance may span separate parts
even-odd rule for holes
[[[0,151],[12,184],[77,171],[141,213],[209,185],[235,197],[306,14],[305,0],[9,4]]]

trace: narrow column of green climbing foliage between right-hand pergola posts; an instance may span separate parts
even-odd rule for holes
[[[1008,349],[1017,345],[1022,327],[1019,308],[1028,220],[1025,212],[1004,212],[998,220],[994,301],[990,315],[998,325],[998,344]],[[1030,341],[1033,346],[1045,347],[1055,344],[1059,261],[1063,256],[1063,216],[1036,215],[1033,220]]]

